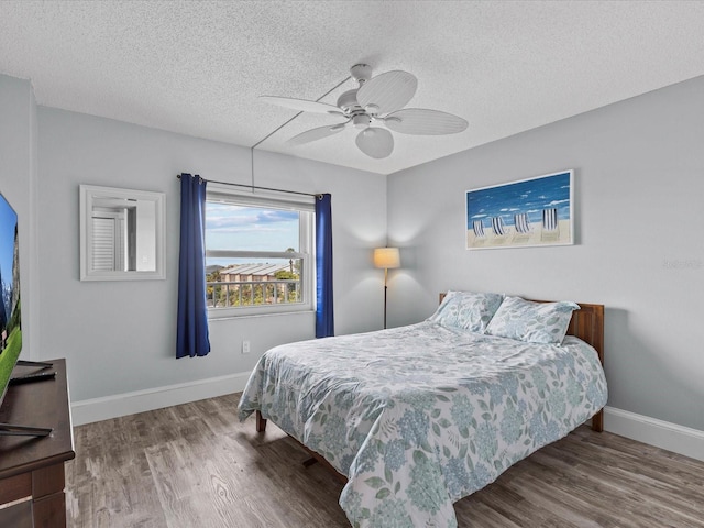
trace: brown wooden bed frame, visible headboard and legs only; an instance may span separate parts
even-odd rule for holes
[[[440,302],[444,298],[444,293],[440,294]],[[551,302],[549,300],[532,300],[534,302]],[[604,365],[604,305],[591,305],[587,302],[578,302],[580,309],[572,312],[572,319],[568,327],[568,336],[574,336],[582,341],[591,344],[598,354],[598,361]],[[596,432],[604,430],[604,409],[601,409],[592,417],[592,429]],[[266,420],[262,417],[261,411],[256,411],[256,431],[264,432],[266,430]],[[302,446],[302,444],[301,444]],[[323,459],[320,454],[306,448],[306,451],[310,453],[312,459],[304,462],[305,465],[309,465],[315,461],[320,462],[324,466],[331,469],[337,473],[343,482],[346,482],[346,477],[340,475],[330,463]]]

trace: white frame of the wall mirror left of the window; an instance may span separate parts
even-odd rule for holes
[[[92,222],[94,202],[105,198],[153,201],[155,207],[155,266],[154,271],[94,270]],[[148,190],[120,189],[116,187],[80,186],[80,279],[81,280],[148,280],[166,278],[166,194]]]

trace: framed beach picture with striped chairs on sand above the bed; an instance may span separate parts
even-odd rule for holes
[[[466,249],[574,243],[574,170],[466,191]]]

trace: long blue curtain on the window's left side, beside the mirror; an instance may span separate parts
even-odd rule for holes
[[[177,359],[210,352],[206,306],[206,184],[198,175],[180,175]]]

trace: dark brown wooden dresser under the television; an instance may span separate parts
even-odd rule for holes
[[[64,463],[76,453],[66,360],[51,363],[55,378],[10,386],[0,408],[0,424],[53,429],[48,437],[0,437],[2,527],[66,527]]]

